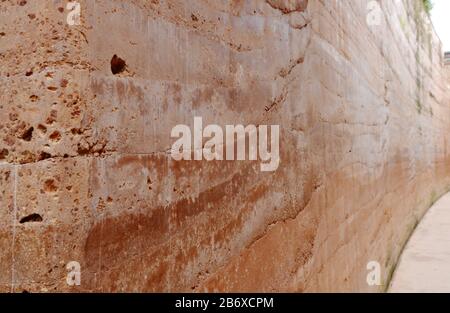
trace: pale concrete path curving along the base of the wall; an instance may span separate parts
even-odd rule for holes
[[[390,292],[450,292],[450,193],[426,213],[406,245]]]

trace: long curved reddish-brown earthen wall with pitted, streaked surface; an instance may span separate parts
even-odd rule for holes
[[[420,2],[381,1],[372,26],[365,0],[78,2],[74,26],[62,0],[0,2],[1,290],[386,287],[450,187],[449,71]],[[174,161],[194,116],[280,125],[278,170]]]

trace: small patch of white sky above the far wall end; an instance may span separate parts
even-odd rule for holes
[[[444,51],[450,51],[450,0],[432,0],[431,19]]]

